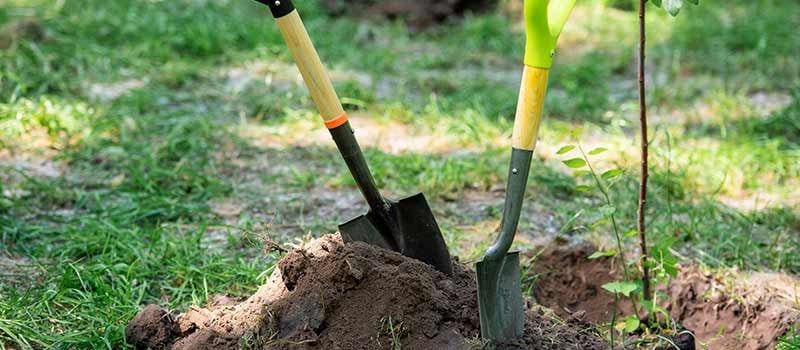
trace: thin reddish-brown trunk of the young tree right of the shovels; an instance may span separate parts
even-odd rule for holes
[[[642,287],[644,300],[650,299],[650,269],[647,266],[647,236],[645,235],[645,204],[647,204],[647,103],[645,100],[644,59],[645,59],[645,2],[639,0],[639,122],[642,130],[642,170],[639,181],[638,219],[639,243],[641,245]]]

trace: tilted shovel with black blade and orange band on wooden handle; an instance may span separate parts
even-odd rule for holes
[[[367,214],[339,225],[344,241],[362,241],[394,250],[451,274],[450,253],[425,196],[417,193],[391,201],[378,191],[347,114],[292,2],[256,1],[269,6],[325,126],[369,204]]]

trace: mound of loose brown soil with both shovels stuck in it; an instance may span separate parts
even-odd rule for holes
[[[148,306],[126,328],[150,349],[480,349],[474,272],[452,276],[395,252],[329,235],[289,252],[244,301],[215,299],[174,315]],[[581,326],[582,327],[582,326]],[[529,308],[525,337],[507,348],[604,349],[551,311]],[[585,328],[585,327],[583,327]]]

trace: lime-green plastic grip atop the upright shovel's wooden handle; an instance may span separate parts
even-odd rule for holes
[[[556,42],[577,0],[525,0],[525,65],[549,69]]]

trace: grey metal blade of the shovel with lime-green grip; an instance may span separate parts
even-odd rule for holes
[[[525,305],[519,252],[510,252],[500,260],[481,259],[476,270],[481,337],[490,342],[521,337],[525,330]]]

